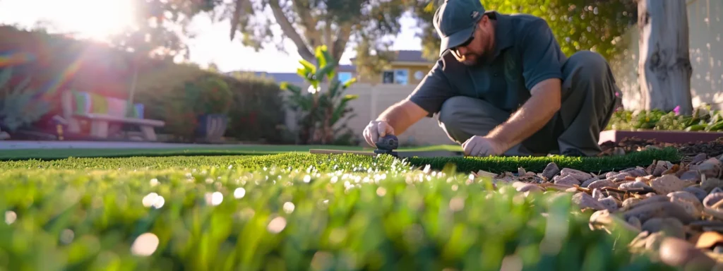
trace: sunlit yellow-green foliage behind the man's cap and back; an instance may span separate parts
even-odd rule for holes
[[[625,48],[623,34],[637,20],[635,0],[481,0],[487,10],[500,13],[526,13],[542,17],[562,48],[570,56],[581,50],[594,50],[610,60]],[[438,1],[416,1],[414,14],[422,30],[424,55],[439,56],[432,18]]]

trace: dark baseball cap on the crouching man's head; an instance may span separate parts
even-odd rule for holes
[[[479,0],[445,0],[432,22],[442,38],[440,56],[469,40],[483,14],[484,7]]]

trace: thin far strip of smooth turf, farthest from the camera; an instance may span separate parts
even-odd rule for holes
[[[271,155],[285,152],[309,152],[311,149],[329,150],[369,150],[373,148],[361,146],[328,146],[328,145],[199,145],[199,147],[168,147],[145,149],[119,149],[119,148],[78,148],[78,149],[22,149],[1,150],[0,161],[42,159],[54,160],[64,158],[127,158],[136,156],[164,157],[164,156],[217,156],[217,155]],[[459,151],[458,145],[432,145],[422,147],[400,147],[399,150]]]

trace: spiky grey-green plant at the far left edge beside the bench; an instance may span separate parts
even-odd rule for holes
[[[52,109],[42,99],[42,90],[30,87],[30,76],[12,85],[13,68],[0,69],[0,130],[15,132],[22,126],[33,124]]]

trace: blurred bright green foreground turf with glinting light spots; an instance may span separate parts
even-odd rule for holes
[[[2,167],[0,270],[671,270],[631,255],[630,233],[591,231],[569,194],[492,192],[389,157]]]

